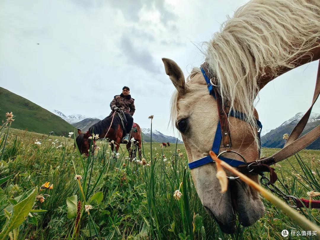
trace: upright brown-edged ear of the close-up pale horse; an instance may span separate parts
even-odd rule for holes
[[[162,59],[164,63],[164,69],[165,73],[169,76],[171,82],[175,86],[175,88],[178,90],[180,95],[183,95],[186,93],[186,82],[184,81],[184,76],[181,68],[178,66],[178,64],[168,58]]]

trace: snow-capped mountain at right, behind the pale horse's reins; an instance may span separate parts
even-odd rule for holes
[[[261,133],[263,137],[261,137],[261,145],[262,147],[267,148],[283,148],[285,140],[283,139],[283,135],[285,133],[290,134],[292,129],[296,126],[296,124],[300,121],[301,117],[304,113],[300,112],[294,115],[289,120],[285,121],[276,129],[269,131],[266,134]],[[301,136],[310,132],[312,129],[317,127],[320,124],[320,114],[312,112],[310,114],[308,123],[301,133]],[[311,143],[307,149],[320,149],[320,138]]]

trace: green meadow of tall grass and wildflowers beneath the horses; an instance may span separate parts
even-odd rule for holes
[[[196,194],[183,144],[143,143],[143,161],[130,162],[125,146],[117,155],[106,140],[85,157],[74,148],[74,135],[7,130],[0,140],[0,239],[283,239],[283,229],[307,230],[263,199],[260,220],[223,234]],[[276,151],[263,148],[261,155]],[[303,198],[320,192],[319,164],[320,151],[300,151],[276,164],[276,186]],[[320,225],[319,210],[299,212]]]

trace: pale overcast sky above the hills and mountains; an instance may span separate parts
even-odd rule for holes
[[[174,87],[161,58],[175,60],[187,76],[203,62],[202,42],[245,2],[2,0],[0,86],[49,111],[107,116],[127,85],[135,122],[148,128],[154,115],[153,129],[174,135],[168,128]],[[301,66],[260,92],[264,130],[309,108],[316,69],[317,62]]]

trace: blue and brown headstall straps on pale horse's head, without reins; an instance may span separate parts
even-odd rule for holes
[[[236,118],[244,121],[245,114],[238,112],[236,110],[233,110],[233,109],[231,109],[231,111],[228,111],[227,110],[228,106],[222,105],[222,98],[221,98],[219,92],[217,91],[218,86],[216,86],[212,83],[212,79],[214,79],[214,77],[212,77],[212,78],[208,77],[210,75],[209,75],[209,72],[207,69],[208,69],[208,65],[206,63],[201,65],[201,72],[202,72],[204,79],[207,83],[209,95],[212,95],[214,97],[214,99],[216,99],[217,104],[218,104],[218,111],[219,111],[219,122],[217,125],[217,129],[216,129],[216,133],[214,136],[211,150],[216,155],[218,155],[219,159],[221,159],[222,161],[228,163],[229,165],[231,165],[233,167],[238,167],[240,165],[242,167],[244,167],[244,166],[250,167],[251,164],[248,164],[246,162],[244,156],[242,156],[240,153],[238,153],[236,151],[231,150],[232,143],[231,143],[229,126],[228,126],[228,116],[236,117]],[[258,119],[257,119],[257,128],[259,129],[258,138],[259,138],[259,158],[260,158],[260,152],[261,152],[260,134],[261,134],[261,130],[262,130],[262,124]],[[223,146],[226,148],[226,150],[219,153],[221,140],[223,141]],[[235,153],[236,155],[240,156],[244,160],[244,162],[236,160],[236,159],[221,156],[222,154],[228,153],[228,152],[232,152],[232,153]],[[188,163],[188,166],[190,169],[193,169],[193,168],[197,168],[197,167],[200,167],[202,165],[212,163],[212,162],[214,162],[214,161],[212,161],[212,158],[208,155],[208,156],[202,157],[196,161]],[[247,172],[252,172],[252,170],[250,171],[248,168]]]

